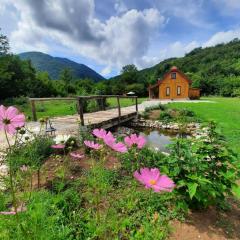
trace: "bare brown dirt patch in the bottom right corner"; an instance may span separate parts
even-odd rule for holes
[[[174,221],[169,240],[239,240],[240,202],[229,201],[229,211],[222,212],[211,208],[191,213],[185,223]]]

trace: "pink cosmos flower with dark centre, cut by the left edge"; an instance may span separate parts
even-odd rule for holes
[[[13,135],[16,133],[16,128],[21,128],[25,124],[25,116],[19,113],[15,107],[0,106],[0,130],[5,130]]]

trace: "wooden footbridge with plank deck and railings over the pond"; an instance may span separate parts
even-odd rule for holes
[[[108,109],[106,106],[107,98],[116,98],[117,107]],[[121,107],[120,99],[130,98],[134,105],[129,107]],[[78,129],[78,125],[88,126],[89,128],[111,128],[124,122],[130,121],[138,116],[138,98],[137,96],[121,96],[121,95],[94,95],[94,96],[78,96],[75,98],[30,98],[33,120],[37,121],[37,112],[35,103],[40,101],[76,101],[77,113],[75,115],[53,117],[51,122],[54,127],[65,129],[64,132],[73,133]],[[98,111],[84,112],[86,103],[90,100],[97,101]],[[34,124],[33,124],[34,125]]]

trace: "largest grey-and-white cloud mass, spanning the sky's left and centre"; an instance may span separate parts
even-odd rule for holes
[[[148,48],[165,21],[157,9],[126,10],[120,1],[122,14],[106,21],[95,17],[93,0],[10,1],[20,16],[10,35],[15,52],[51,52],[49,42],[54,42],[70,53],[105,64],[105,74],[111,67],[120,69],[129,63],[145,67],[154,61],[155,57],[147,56]]]

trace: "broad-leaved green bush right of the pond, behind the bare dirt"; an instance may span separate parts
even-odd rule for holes
[[[211,123],[208,136],[200,139],[176,139],[163,162],[191,207],[221,204],[240,177],[236,156],[215,128]]]

